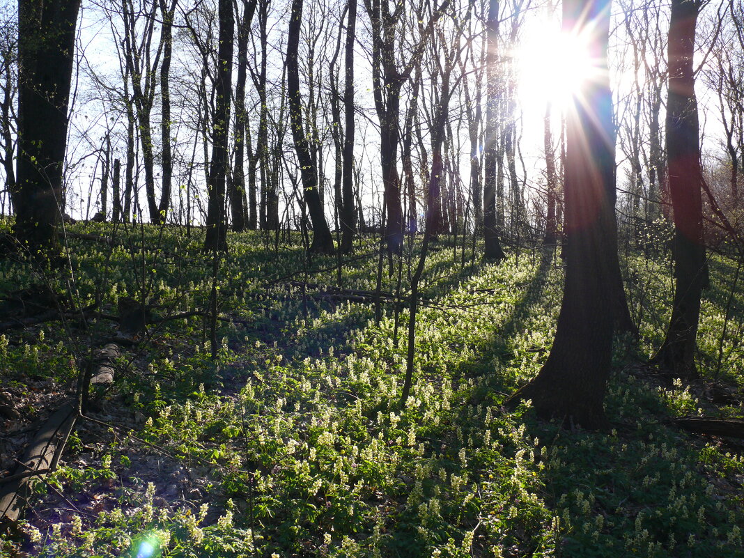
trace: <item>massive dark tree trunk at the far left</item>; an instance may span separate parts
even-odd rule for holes
[[[80,0],[19,0],[18,162],[13,233],[31,254],[54,244]]]

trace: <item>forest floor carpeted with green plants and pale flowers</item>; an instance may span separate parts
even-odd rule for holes
[[[308,260],[299,237],[231,234],[213,359],[203,231],[68,231],[61,270],[0,261],[0,475],[74,400],[96,350],[114,342],[121,356],[58,469],[34,481],[25,520],[0,534],[2,557],[744,557],[744,445],[674,423],[744,417],[731,260],[711,257],[703,377],[685,385],[646,365],[668,319],[669,257],[623,256],[641,336],[616,339],[611,426],[587,432],[501,405],[551,347],[553,251],[496,265],[461,239],[436,243],[401,408],[408,311],[395,300],[418,246],[389,267],[373,240]],[[26,319],[39,286],[64,320]],[[129,299],[147,301],[147,330],[126,331]]]

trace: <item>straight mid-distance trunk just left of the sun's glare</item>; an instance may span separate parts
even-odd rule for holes
[[[503,260],[496,219],[496,129],[498,128],[498,0],[490,0],[486,52],[486,144],[484,153],[483,234],[487,260]]]

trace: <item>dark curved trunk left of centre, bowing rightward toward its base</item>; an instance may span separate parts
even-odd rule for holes
[[[300,94],[300,73],[298,50],[303,0],[292,0],[292,13],[286,39],[286,85],[289,103],[289,119],[292,124],[292,138],[295,141],[304,199],[312,222],[312,245],[310,251],[330,254],[333,252],[333,237],[325,219],[321,196],[318,191],[318,169],[312,161],[310,145],[304,134],[302,123],[302,97]]]

